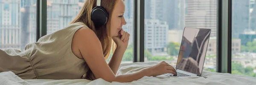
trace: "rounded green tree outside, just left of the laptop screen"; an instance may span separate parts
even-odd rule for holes
[[[178,55],[180,50],[180,44],[175,42],[169,42],[167,46],[167,53],[169,55]]]

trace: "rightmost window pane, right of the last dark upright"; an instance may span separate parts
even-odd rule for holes
[[[232,0],[232,74],[256,77],[256,2]],[[253,4],[253,5],[250,5]],[[249,62],[250,61],[250,62]]]

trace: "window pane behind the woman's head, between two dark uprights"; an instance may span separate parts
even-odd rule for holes
[[[79,13],[85,1],[86,0],[47,0],[47,34],[68,26]],[[133,0],[125,0],[124,18],[127,24],[122,26],[122,28],[130,34],[130,40],[121,63],[133,61],[133,13]],[[107,62],[109,62],[112,55],[113,52],[111,49],[111,54]]]

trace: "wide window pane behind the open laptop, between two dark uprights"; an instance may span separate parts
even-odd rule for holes
[[[184,27],[211,28],[209,39],[211,48],[208,48],[204,69],[216,71],[216,47],[214,46],[217,44],[217,0],[147,0],[145,1],[145,30],[148,30],[147,22],[154,22],[151,24],[154,32],[147,34],[148,31],[146,31],[145,34],[159,40],[145,41],[153,42],[151,47],[148,44],[144,46],[145,62],[166,61],[176,66]],[[147,38],[149,37],[145,37]],[[162,50],[148,51],[148,49]]]

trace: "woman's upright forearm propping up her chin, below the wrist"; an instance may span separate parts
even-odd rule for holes
[[[117,47],[113,53],[113,56],[111,57],[110,61],[108,62],[108,66],[111,68],[113,73],[116,75],[117,70],[120,66],[120,63],[122,61],[122,57],[125,53],[125,48]]]

